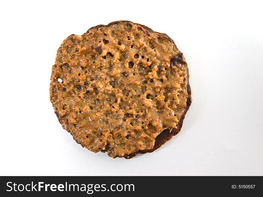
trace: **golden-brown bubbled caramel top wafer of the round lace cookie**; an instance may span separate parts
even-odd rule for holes
[[[164,129],[178,127],[188,96],[186,70],[164,34],[118,22],[62,42],[50,98],[77,143],[123,157],[152,149]]]

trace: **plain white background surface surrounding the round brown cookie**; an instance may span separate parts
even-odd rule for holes
[[[1,2],[0,175],[263,175],[263,15],[257,2]],[[62,129],[49,101],[62,41],[117,20],[174,39],[192,88],[181,132],[130,160],[83,149]]]

